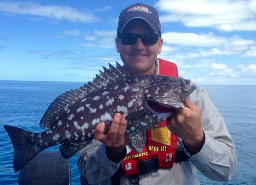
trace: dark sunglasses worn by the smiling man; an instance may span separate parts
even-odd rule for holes
[[[134,45],[137,39],[140,38],[143,45],[150,46],[157,43],[159,35],[156,33],[134,34],[134,33],[121,33],[121,42],[125,45]]]

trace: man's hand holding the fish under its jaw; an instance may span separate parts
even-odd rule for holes
[[[184,101],[185,108],[177,110],[173,117],[166,120],[167,128],[188,147],[190,153],[197,154],[204,145],[205,134],[201,128],[200,109],[191,100]]]

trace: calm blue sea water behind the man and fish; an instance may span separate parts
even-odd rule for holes
[[[0,185],[17,185],[13,146],[3,125],[41,132],[38,123],[61,93],[83,83],[0,81]],[[204,86],[223,115],[236,149],[238,167],[230,182],[216,182],[198,172],[202,185],[256,185],[256,86]],[[48,151],[58,151],[58,146]],[[71,158],[72,185],[79,185],[77,154]]]

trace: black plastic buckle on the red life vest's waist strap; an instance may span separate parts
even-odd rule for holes
[[[141,174],[149,173],[159,169],[159,160],[157,157],[151,160],[143,160],[138,162],[138,168]]]

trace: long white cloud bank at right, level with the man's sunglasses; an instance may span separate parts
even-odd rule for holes
[[[246,40],[238,36],[221,37],[210,33],[182,33],[167,32],[162,34],[164,40],[163,55],[167,54],[166,46],[175,45],[172,50],[173,55],[182,56],[182,58],[198,58],[206,56],[254,56],[256,55],[254,46],[256,41]],[[178,45],[178,46],[176,46]],[[182,46],[182,48],[179,47]],[[198,49],[195,49],[197,47]],[[248,50],[250,49],[250,50]],[[180,52],[177,54],[177,52]],[[246,54],[244,54],[246,53]],[[179,57],[180,58],[180,57]]]

